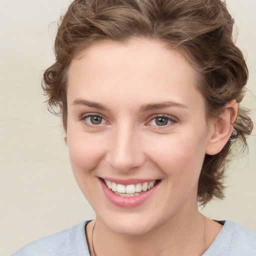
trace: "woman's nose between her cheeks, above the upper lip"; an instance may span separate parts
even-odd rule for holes
[[[116,127],[111,134],[106,160],[113,169],[121,172],[141,166],[145,155],[139,132],[134,127]]]

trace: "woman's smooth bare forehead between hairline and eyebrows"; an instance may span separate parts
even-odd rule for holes
[[[102,41],[79,52],[70,64],[67,99],[111,96],[130,103],[173,100],[187,104],[201,95],[196,72],[179,52],[156,40],[121,44]]]

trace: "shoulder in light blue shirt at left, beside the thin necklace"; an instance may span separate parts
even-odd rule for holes
[[[83,221],[73,227],[28,243],[11,256],[89,256]]]

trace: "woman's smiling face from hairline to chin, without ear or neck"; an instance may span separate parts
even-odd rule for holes
[[[71,166],[112,231],[142,234],[197,209],[211,128],[195,75],[179,53],[146,39],[99,42],[71,62]]]

